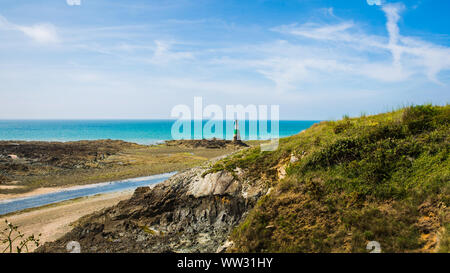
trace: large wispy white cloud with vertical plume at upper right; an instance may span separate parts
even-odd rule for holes
[[[273,28],[301,39],[302,46],[285,42],[284,49],[271,52],[271,56],[280,57],[252,65],[279,90],[298,89],[315,79],[317,82],[338,77],[353,80],[360,76],[380,82],[404,82],[422,75],[442,84],[438,74],[450,69],[450,48],[402,36],[398,22],[403,9],[402,4],[383,5],[388,36],[367,34],[363,27],[351,21]],[[290,54],[284,56],[281,52]],[[386,58],[387,54],[391,58]]]

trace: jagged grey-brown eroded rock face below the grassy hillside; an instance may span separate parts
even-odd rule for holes
[[[230,231],[267,189],[228,172],[202,177],[203,168],[177,174],[131,199],[84,217],[77,227],[37,252],[66,252],[78,241],[82,252],[224,251]]]

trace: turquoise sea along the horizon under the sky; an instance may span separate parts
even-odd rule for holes
[[[221,121],[222,122],[222,121]],[[286,137],[297,134],[311,127],[319,121],[281,120],[279,121],[279,136]],[[96,139],[119,139],[139,144],[155,144],[164,140],[171,140],[172,126],[175,120],[0,120],[0,140],[40,140],[40,141],[76,141]],[[203,121],[203,127],[207,121]],[[219,124],[219,123],[218,123]],[[194,122],[191,122],[191,137],[194,135]],[[254,125],[258,128],[249,133]],[[232,139],[233,121],[223,121],[223,131],[210,130],[203,138]],[[267,139],[270,135],[271,124],[267,123],[269,133],[260,130],[255,121],[240,122],[242,139]],[[200,137],[200,138],[201,138]]]

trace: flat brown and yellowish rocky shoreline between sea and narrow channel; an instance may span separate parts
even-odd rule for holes
[[[0,141],[0,196],[182,171],[245,146],[219,139],[150,146],[120,140]]]

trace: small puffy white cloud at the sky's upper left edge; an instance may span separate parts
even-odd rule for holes
[[[32,26],[16,25],[0,15],[0,29],[20,31],[34,41],[42,44],[59,42],[56,28],[52,24],[36,24]]]

